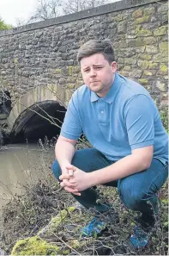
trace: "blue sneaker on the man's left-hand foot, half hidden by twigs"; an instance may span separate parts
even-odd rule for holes
[[[81,236],[97,236],[103,230],[106,229],[106,222],[100,222],[98,217],[94,217],[94,219],[88,224],[88,226],[81,228]]]

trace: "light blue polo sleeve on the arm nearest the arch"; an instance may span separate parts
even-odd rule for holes
[[[70,140],[78,140],[82,134],[75,93],[69,101],[60,134]]]

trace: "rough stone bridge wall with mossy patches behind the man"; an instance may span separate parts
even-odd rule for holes
[[[82,84],[77,49],[109,38],[118,72],[167,104],[167,1],[124,0],[0,32],[0,89],[15,100],[34,86],[63,86],[66,100]]]

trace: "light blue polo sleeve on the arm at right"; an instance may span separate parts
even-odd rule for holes
[[[124,107],[131,149],[154,145],[154,103],[146,95],[131,97]]]

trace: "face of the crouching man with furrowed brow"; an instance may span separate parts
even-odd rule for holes
[[[109,91],[116,71],[117,63],[113,61],[109,64],[102,53],[95,53],[81,59],[81,74],[84,83],[99,97],[104,97]]]

